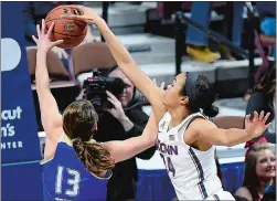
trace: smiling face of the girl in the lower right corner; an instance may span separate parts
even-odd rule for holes
[[[256,173],[259,178],[274,178],[275,172],[275,156],[269,149],[260,150],[256,155]]]

